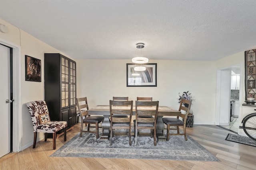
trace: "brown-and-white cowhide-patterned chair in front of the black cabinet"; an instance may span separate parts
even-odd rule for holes
[[[26,103],[34,129],[34,144],[33,148],[36,147],[37,132],[44,133],[44,141],[47,140],[47,133],[52,133],[53,149],[56,149],[56,132],[64,129],[64,141],[66,141],[66,121],[48,121],[40,124],[38,115],[49,113],[48,107],[45,101],[34,101]]]

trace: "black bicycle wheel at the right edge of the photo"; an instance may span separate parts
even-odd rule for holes
[[[256,115],[250,115],[244,120],[243,129],[248,137],[256,141]]]

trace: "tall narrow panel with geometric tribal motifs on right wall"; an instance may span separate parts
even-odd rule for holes
[[[256,98],[256,49],[244,51],[245,100]]]

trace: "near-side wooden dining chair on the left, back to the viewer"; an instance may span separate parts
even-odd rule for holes
[[[132,124],[132,106],[133,101],[110,100],[110,146],[114,137],[113,129],[128,129],[129,145],[131,140],[131,124]],[[127,117],[118,117],[125,115]]]

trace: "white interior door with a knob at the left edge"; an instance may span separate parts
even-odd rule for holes
[[[10,153],[10,49],[0,45],[0,157]]]

